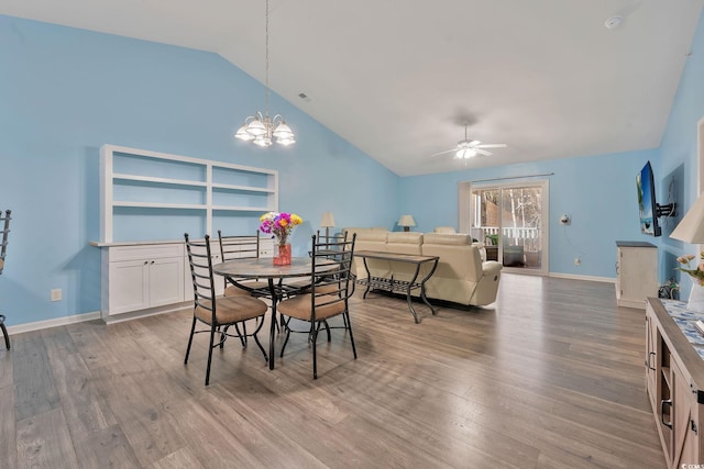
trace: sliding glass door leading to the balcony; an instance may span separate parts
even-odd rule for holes
[[[498,260],[510,270],[548,273],[547,180],[468,182],[460,193],[466,214],[464,220],[460,216],[460,226],[484,244],[487,260]]]

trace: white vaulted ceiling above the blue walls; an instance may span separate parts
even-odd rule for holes
[[[270,85],[400,176],[653,148],[685,62],[702,60],[690,47],[703,3],[271,0]],[[262,82],[264,12],[264,0],[0,0],[1,14],[215,52]],[[508,147],[430,157],[463,122]]]

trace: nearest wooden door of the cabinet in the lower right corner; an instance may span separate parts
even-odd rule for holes
[[[700,428],[696,400],[682,370],[674,361],[671,367],[672,387],[674,388],[672,467],[680,468],[683,465],[698,465],[702,460],[700,460]]]

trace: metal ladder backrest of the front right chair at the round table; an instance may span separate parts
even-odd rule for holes
[[[312,321],[316,309],[331,309],[338,312],[346,311],[348,299],[352,295],[350,281],[352,280],[352,259],[354,256],[354,241],[345,238],[334,243],[327,243],[312,235],[312,277],[310,287]],[[330,269],[330,263],[337,266]]]

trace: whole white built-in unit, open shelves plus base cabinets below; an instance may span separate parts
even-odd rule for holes
[[[250,235],[262,213],[277,211],[278,172],[187,156],[103,145],[100,148],[101,315],[123,321],[193,301],[184,233]],[[215,233],[213,233],[215,231]],[[260,239],[260,257],[273,255]],[[222,294],[218,279],[216,292]]]

